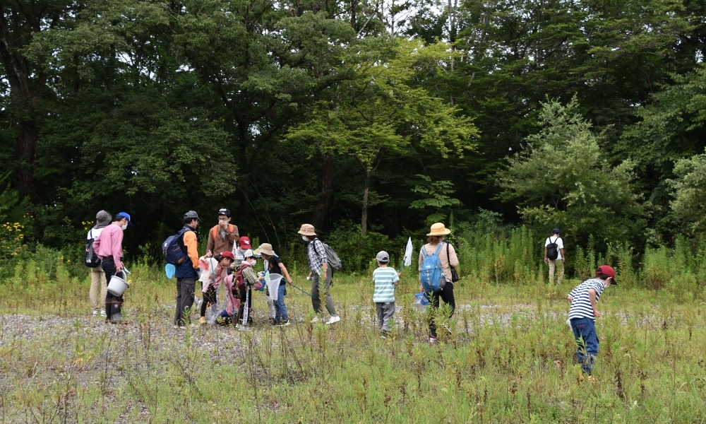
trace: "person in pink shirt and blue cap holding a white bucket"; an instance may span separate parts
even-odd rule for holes
[[[100,266],[105,273],[106,281],[112,276],[122,273],[123,266],[123,232],[132,226],[130,214],[119,212],[115,220],[103,228],[100,236],[93,241],[93,250],[100,258]],[[109,291],[105,295],[105,319],[115,324],[123,320],[123,295],[116,296]]]

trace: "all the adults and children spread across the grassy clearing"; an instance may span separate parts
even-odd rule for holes
[[[181,237],[186,258],[175,266],[177,277],[177,305],[174,315],[174,326],[181,327],[191,322],[191,307],[195,301],[196,281],[201,282],[202,298],[199,309],[200,324],[206,324],[205,313],[208,307],[217,304],[217,288],[225,287],[226,306],[217,315],[217,322],[247,326],[252,316],[247,312],[252,307],[252,290],[263,290],[267,285],[268,274],[281,276],[279,284],[270,285],[277,290],[276,296],[268,296],[270,320],[275,325],[289,325],[285,295],[288,283],[292,278],[282,260],[275,254],[272,245],[263,243],[253,251],[251,240],[240,236],[238,227],[231,223],[230,211],[222,208],[217,213],[218,223],[208,232],[206,254],[198,257],[198,241],[196,228],[201,219],[196,211],[184,214],[184,227],[177,233]],[[122,296],[112,295],[106,291],[107,281],[124,270],[121,260],[123,231],[132,225],[128,213],[120,212],[112,220],[110,213],[100,211],[96,215],[96,225],[88,232],[88,240],[92,240],[92,249],[100,258],[100,266],[91,270],[90,302],[94,316],[100,314],[109,322],[121,322]],[[309,262],[311,280],[311,305],[316,312],[312,322],[318,322],[323,313],[323,306],[330,314],[325,324],[340,322],[336,313],[333,298],[330,294],[333,280],[333,266],[329,264],[325,245],[319,240],[313,225],[304,224],[299,229],[299,235],[306,242],[306,252]],[[426,244],[419,251],[419,267],[429,257],[436,257],[436,264],[441,269],[442,280],[436,290],[422,291],[429,295],[429,305],[438,309],[443,301],[449,306],[450,314],[455,310],[454,282],[455,268],[459,266],[457,254],[453,245],[445,241],[450,229],[443,223],[431,225],[427,234]],[[255,271],[258,259],[263,260],[263,271]],[[558,283],[563,278],[563,261],[566,260],[563,240],[560,231],[555,228],[551,237],[545,240],[544,261],[549,264],[550,283],[553,283],[554,272],[558,269]],[[400,283],[401,273],[390,266],[390,256],[381,251],[376,255],[378,268],[373,271],[373,302],[376,305],[378,326],[382,338],[388,336],[395,314],[395,288]],[[276,277],[275,277],[276,278]],[[423,278],[420,277],[420,281]],[[568,294],[570,302],[569,320],[571,330],[577,342],[577,359],[582,364],[583,372],[589,376],[592,372],[594,358],[598,354],[598,338],[595,329],[595,318],[600,317],[597,302],[601,293],[611,283],[615,284],[615,270],[608,265],[599,266],[596,276],[584,281]],[[100,298],[104,299],[104,310],[101,310]],[[275,298],[276,300],[273,300]],[[324,305],[321,305],[321,298]],[[450,331],[445,328],[446,331]],[[429,342],[438,341],[437,326],[433,314],[429,319]]]

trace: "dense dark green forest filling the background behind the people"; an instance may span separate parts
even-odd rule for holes
[[[305,222],[358,253],[436,220],[599,252],[705,230],[704,1],[0,12],[3,260],[80,257],[100,209],[131,213],[128,255],[155,259],[187,210],[210,227],[222,207],[282,252]]]

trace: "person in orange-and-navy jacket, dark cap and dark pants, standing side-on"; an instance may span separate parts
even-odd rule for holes
[[[183,242],[186,249],[186,256],[181,264],[177,265],[174,276],[177,277],[177,312],[174,314],[174,327],[179,328],[191,323],[189,311],[193,306],[193,294],[196,290],[196,278],[198,278],[198,245],[196,242],[196,227],[201,220],[196,211],[184,213]]]

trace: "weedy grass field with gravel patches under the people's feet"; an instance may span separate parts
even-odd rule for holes
[[[342,321],[253,331],[172,328],[174,281],[135,265],[126,325],[90,317],[88,281],[34,276],[0,285],[0,417],[28,423],[699,423],[706,421],[701,302],[612,286],[597,319],[594,382],[581,377],[561,287],[456,284],[450,334],[430,345],[397,290],[393,336],[377,332],[368,276],[335,276]],[[308,290],[303,276],[295,284]],[[196,315],[194,315],[196,317]]]

